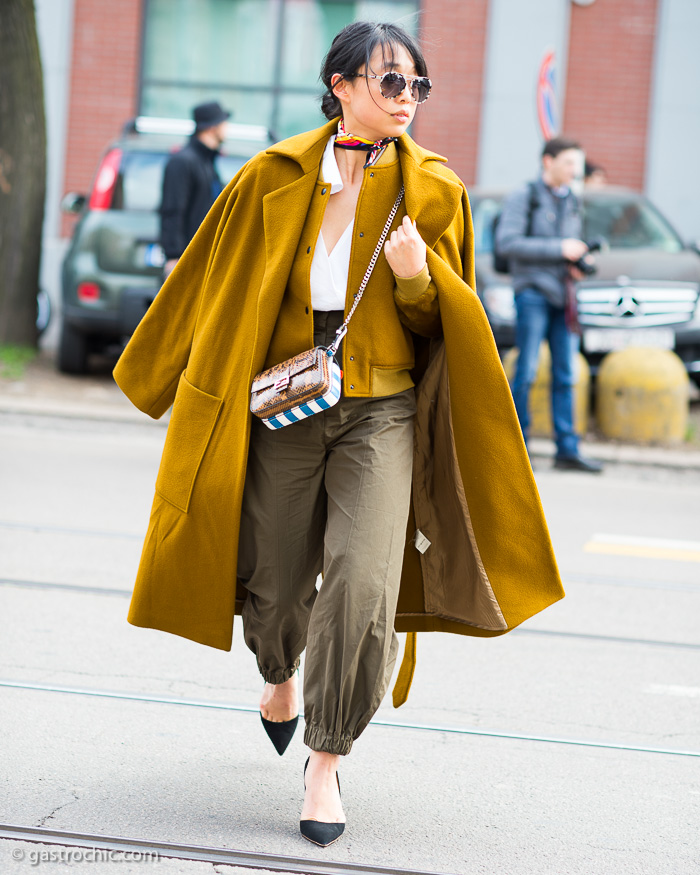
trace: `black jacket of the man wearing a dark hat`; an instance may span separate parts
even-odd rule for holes
[[[223,188],[214,166],[219,153],[196,137],[165,166],[160,205],[160,245],[179,258]]]

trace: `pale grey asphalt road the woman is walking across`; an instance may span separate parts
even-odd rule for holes
[[[460,875],[700,872],[700,472],[536,460],[567,598],[501,639],[419,636],[323,851],[240,623],[222,653],[125,621],[164,434],[0,414],[0,822]],[[0,841],[0,872],[63,871],[41,849]]]

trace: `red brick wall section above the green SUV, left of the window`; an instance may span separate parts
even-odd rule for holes
[[[66,192],[87,192],[105,146],[136,113],[141,6],[142,0],[75,0]],[[63,236],[74,221],[63,217]]]

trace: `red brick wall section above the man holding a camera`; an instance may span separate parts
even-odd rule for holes
[[[571,7],[563,131],[609,181],[642,189],[657,0]]]

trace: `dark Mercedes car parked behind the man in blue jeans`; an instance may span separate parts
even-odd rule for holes
[[[504,192],[472,189],[477,291],[496,343],[515,343],[508,274],[493,267],[493,223]],[[625,346],[675,350],[700,382],[700,254],[686,246],[645,197],[606,187],[583,195],[583,237],[602,237],[597,271],[577,284],[581,350],[595,374],[603,356]]]

